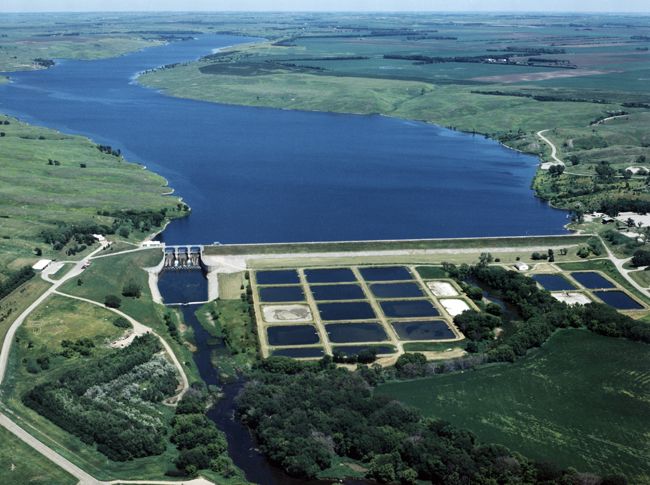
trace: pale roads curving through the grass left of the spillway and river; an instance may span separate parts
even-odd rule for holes
[[[49,268],[46,268],[42,273],[41,277],[49,282],[52,283],[52,286],[45,292],[43,293],[34,303],[32,303],[29,308],[27,308],[23,313],[20,314],[20,316],[16,319],[16,321],[11,325],[9,330],[7,331],[7,335],[5,337],[4,342],[2,343],[2,349],[0,350],[0,382],[4,379],[5,372],[7,370],[7,361],[9,359],[9,352],[11,350],[11,344],[14,341],[14,336],[16,334],[16,331],[18,328],[22,325],[22,323],[25,321],[25,318],[32,312],[34,311],[43,301],[45,301],[46,298],[48,298],[50,295],[57,294],[60,296],[64,296],[67,298],[74,298],[76,300],[81,300],[85,301],[88,303],[92,303],[93,305],[98,305],[101,306],[102,308],[105,308],[104,305],[101,303],[98,303],[93,300],[88,300],[86,298],[80,298],[72,295],[67,295],[65,293],[61,293],[57,291],[57,288],[61,286],[63,283],[68,281],[71,278],[74,278],[75,276],[80,275],[84,270],[82,269],[82,266],[85,261],[89,259],[93,259],[93,256],[101,251],[104,248],[104,246],[101,246],[100,248],[96,249],[92,253],[90,253],[89,256],[83,258],[81,261],[63,261],[56,263],[55,265],[50,265]],[[100,256],[104,257],[104,256]],[[60,280],[52,280],[50,278],[51,274],[54,274],[60,267],[61,263],[73,263],[75,266],[65,275],[63,276]],[[177,400],[180,400],[180,398],[187,392],[189,389],[189,382],[187,379],[187,375],[185,374],[185,371],[183,370],[183,367],[181,363],[178,361],[176,358],[176,355],[172,351],[171,347],[169,344],[165,341],[165,339],[161,338],[159,335],[157,335],[151,328],[142,325],[140,322],[137,320],[134,320],[130,316],[126,315],[125,313],[116,310],[114,308],[109,308],[109,310],[117,313],[118,315],[126,318],[131,322],[133,325],[133,329],[136,333],[147,333],[151,332],[154,335],[156,335],[163,346],[165,347],[165,350],[171,357],[172,361],[174,362],[174,366],[178,369],[179,374],[181,375],[181,378],[183,380],[183,388],[180,391],[179,394],[177,394]],[[129,484],[159,484],[159,485],[170,485],[172,483],[178,483],[177,481],[156,481],[156,480],[112,480],[112,481],[101,481],[97,480],[95,477],[92,475],[86,473],[84,470],[79,468],[77,465],[69,461],[68,459],[64,458],[63,456],[59,455],[56,451],[54,451],[52,448],[49,446],[45,445],[35,437],[33,437],[31,434],[29,434],[27,431],[25,431],[23,428],[21,428],[18,424],[16,424],[14,421],[9,419],[5,414],[0,413],[0,426],[3,426],[10,432],[12,432],[14,435],[16,435],[18,438],[20,438],[23,442],[27,443],[29,446],[34,448],[36,451],[41,453],[42,455],[46,456],[50,460],[52,460],[54,463],[56,463],[58,466],[63,468],[65,471],[73,475],[74,477],[79,479],[79,483],[82,485],[114,485],[117,483],[129,483]],[[194,480],[186,480],[183,482],[186,485],[213,485],[213,482],[208,481],[204,478],[196,478]]]

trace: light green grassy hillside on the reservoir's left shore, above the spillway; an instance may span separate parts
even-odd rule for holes
[[[5,135],[0,143],[0,277],[41,259],[35,248],[42,250],[44,258],[64,259],[67,247],[54,251],[40,236],[41,231],[56,228],[57,222],[110,226],[113,218],[98,216],[98,210],[167,208],[172,218],[182,215],[177,197],[162,197],[170,191],[162,177],[100,152],[87,138],[30,126],[4,115],[0,123]],[[135,231],[130,240],[145,236]],[[111,236],[111,240],[120,239]]]

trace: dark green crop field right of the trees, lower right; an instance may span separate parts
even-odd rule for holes
[[[389,383],[377,393],[539,460],[650,483],[650,352],[560,331],[515,364]]]

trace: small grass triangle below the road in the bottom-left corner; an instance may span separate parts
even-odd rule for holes
[[[78,480],[49,459],[0,428],[0,481],[3,485],[74,485]]]

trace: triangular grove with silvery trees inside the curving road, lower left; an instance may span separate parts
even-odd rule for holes
[[[151,403],[178,385],[174,366],[154,355],[161,349],[152,334],[136,337],[120,352],[80,362],[34,387],[22,401],[113,461],[159,455],[167,448],[167,423]]]

